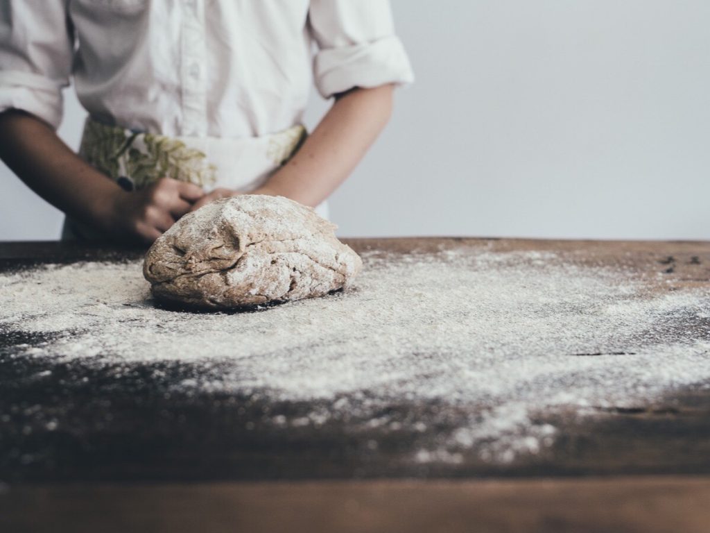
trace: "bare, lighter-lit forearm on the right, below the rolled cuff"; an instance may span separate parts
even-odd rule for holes
[[[266,188],[315,206],[354,170],[392,113],[392,85],[356,89],[336,99],[300,150]]]

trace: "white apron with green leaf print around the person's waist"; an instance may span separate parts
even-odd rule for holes
[[[207,193],[218,187],[249,193],[266,183],[306,136],[305,127],[297,124],[260,137],[169,137],[107,126],[89,117],[79,155],[124,190],[138,190],[167,176],[200,185]],[[315,211],[327,218],[327,203]],[[105,237],[69,217],[64,222],[62,239]]]

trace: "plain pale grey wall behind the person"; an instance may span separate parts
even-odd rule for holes
[[[710,238],[710,2],[392,4],[417,81],[333,196],[340,235]],[[69,93],[71,146],[82,121]],[[61,219],[0,168],[0,239]]]

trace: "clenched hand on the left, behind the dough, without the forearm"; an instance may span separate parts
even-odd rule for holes
[[[204,191],[197,185],[162,178],[141,190],[116,190],[99,224],[117,237],[138,237],[151,243],[201,198]]]

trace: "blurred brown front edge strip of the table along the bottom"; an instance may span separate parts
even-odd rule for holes
[[[706,533],[709,478],[43,485],[4,532]]]

